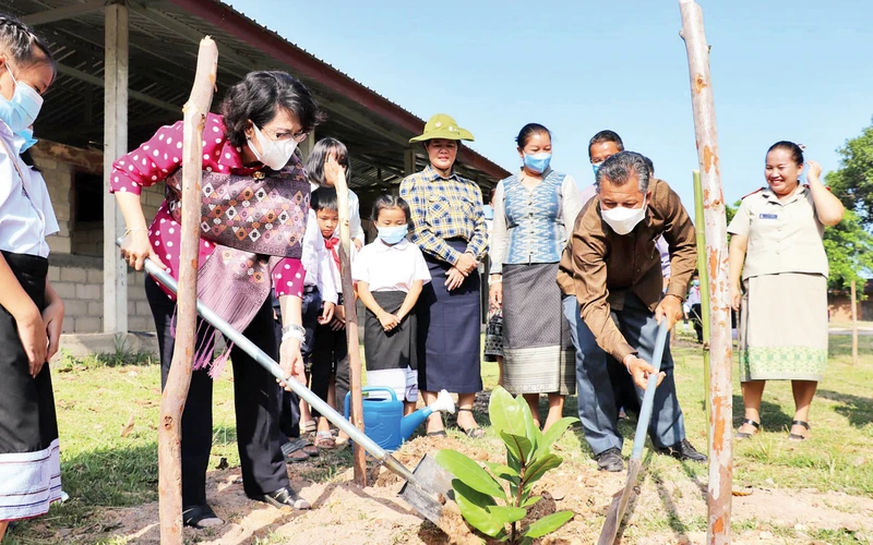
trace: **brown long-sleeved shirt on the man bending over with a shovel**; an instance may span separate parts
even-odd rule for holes
[[[649,189],[646,217],[625,235],[615,234],[600,217],[599,195],[591,198],[576,218],[558,271],[561,291],[576,295],[582,318],[597,343],[620,362],[636,349],[627,343],[611,312],[624,307],[627,292],[655,312],[663,289],[658,238],[663,235],[670,249],[668,294],[684,300],[697,265],[694,225],[679,195],[662,180],[651,180]]]

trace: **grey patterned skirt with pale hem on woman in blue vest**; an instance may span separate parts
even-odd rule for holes
[[[512,393],[576,392],[557,275],[557,263],[503,266],[503,387]]]

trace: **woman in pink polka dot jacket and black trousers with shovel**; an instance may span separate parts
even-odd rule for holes
[[[302,336],[297,332],[302,329],[306,271],[296,241],[306,230],[309,184],[294,152],[323,114],[309,90],[284,72],[248,74],[228,90],[220,111],[220,116],[206,117],[203,131],[203,195],[204,202],[210,201],[213,206],[203,209],[198,296],[278,359],[286,373],[301,375]],[[153,259],[175,278],[179,267],[182,136],[181,121],[163,126],[148,142],[119,158],[110,177],[110,191],[128,227],[122,257],[137,270],[145,258]],[[146,227],[140,193],[159,182],[167,184],[167,199],[151,227]],[[276,195],[287,198],[277,201],[283,197]],[[272,213],[271,205],[277,214]],[[216,235],[225,230],[238,233],[243,228],[248,235],[239,239]],[[285,243],[282,255],[273,250],[277,240]],[[291,246],[294,251],[287,250]],[[288,330],[280,347],[268,296],[273,284]],[[151,277],[145,291],[160,346],[163,385],[172,360],[176,302]],[[248,313],[244,307],[250,307]],[[199,355],[211,358],[214,338],[214,330],[199,324]],[[288,481],[279,443],[275,379],[241,350],[232,348],[229,355],[246,494],[275,507],[308,509],[309,504],[290,488]],[[194,528],[224,523],[206,502],[206,467],[212,448],[211,375],[220,367],[213,364],[210,373],[202,363],[195,359],[182,415],[182,519]]]

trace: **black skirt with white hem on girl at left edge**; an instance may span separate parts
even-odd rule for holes
[[[24,291],[45,307],[48,259],[3,252]],[[15,320],[0,306],[0,521],[38,517],[60,499],[58,419],[48,364],[31,376]]]

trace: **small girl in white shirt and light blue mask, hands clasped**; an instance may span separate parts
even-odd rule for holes
[[[416,314],[421,288],[430,281],[424,256],[406,240],[409,205],[382,195],[373,205],[379,238],[366,245],[351,265],[358,296],[367,306],[363,352],[367,385],[395,391],[410,414],[418,401]],[[378,392],[373,397],[379,396]]]

